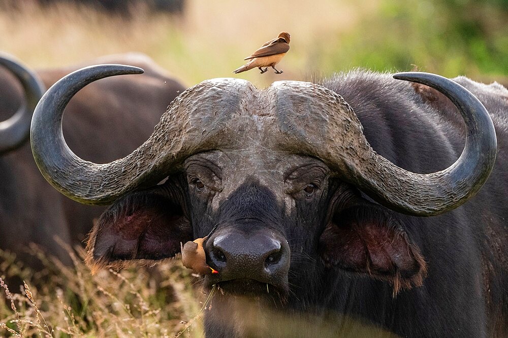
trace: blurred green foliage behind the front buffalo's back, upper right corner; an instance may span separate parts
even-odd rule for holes
[[[508,75],[508,5],[469,0],[387,1],[346,32],[327,67],[420,69],[455,77]],[[344,67],[343,65],[346,64]]]

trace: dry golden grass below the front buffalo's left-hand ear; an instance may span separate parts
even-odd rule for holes
[[[74,265],[63,266],[37,248],[46,268],[27,272],[20,293],[0,279],[0,335],[186,337],[202,336],[206,299],[192,286],[181,262],[91,275],[83,252],[70,250]],[[36,286],[37,285],[37,286]],[[12,285],[11,287],[17,287]],[[201,310],[200,310],[201,309]]]

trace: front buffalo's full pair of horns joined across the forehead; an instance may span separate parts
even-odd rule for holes
[[[111,203],[182,170],[181,164],[192,154],[252,148],[320,158],[341,179],[387,207],[431,216],[461,205],[478,192],[494,165],[494,126],[480,101],[451,80],[420,72],[400,73],[396,78],[431,86],[448,96],[467,129],[460,158],[436,173],[408,172],[379,156],[342,97],[296,81],[275,82],[262,91],[239,79],[204,81],[172,102],[153,134],[131,155],[101,165],[77,158],[61,135],[65,105],[86,84],[135,69],[103,65],[79,70],[50,88],[36,108],[32,124],[36,162],[46,179],[74,200]]]

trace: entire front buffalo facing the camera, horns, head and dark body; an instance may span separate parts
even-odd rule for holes
[[[264,90],[209,80],[130,155],[81,160],[62,138],[63,108],[88,83],[137,72],[70,74],[31,127],[58,191],[112,204],[88,241],[94,269],[151,264],[200,238],[203,283],[220,291],[208,336],[314,336],[322,325],[338,336],[350,320],[412,337],[508,334],[505,88],[419,72],[394,76],[412,83],[353,71]]]

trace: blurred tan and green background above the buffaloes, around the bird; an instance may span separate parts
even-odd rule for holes
[[[138,51],[188,86],[231,77],[243,58],[291,33],[284,73],[265,87],[364,67],[479,81],[508,78],[508,0],[4,0],[0,50],[36,68]]]

